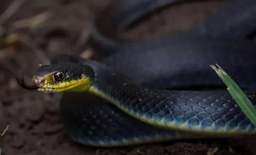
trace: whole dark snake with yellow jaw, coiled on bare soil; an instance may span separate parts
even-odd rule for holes
[[[115,21],[123,24],[115,24],[125,27],[137,17],[174,2],[178,0],[119,1],[115,6],[121,6],[121,10],[109,10],[119,12],[114,14],[124,20]],[[131,5],[127,7],[127,4]],[[238,1],[234,0],[233,4],[238,4]],[[253,3],[248,0],[239,4],[250,4],[247,6],[251,7]],[[136,13],[138,8],[142,11]],[[233,9],[230,16],[227,14],[230,18],[231,15],[237,17],[236,13],[232,14]],[[239,16],[241,19],[245,19],[246,11],[241,12],[240,15],[244,15]],[[131,12],[135,14],[129,14]],[[216,16],[221,14],[222,10]],[[255,17],[248,16],[248,19]],[[218,18],[213,16],[212,19]],[[209,19],[209,23],[214,20]],[[231,34],[247,20],[238,18],[237,21],[231,29],[223,28],[219,34],[212,33],[217,36],[211,36],[213,27],[204,30],[203,34],[195,28],[176,36],[135,42],[117,41],[101,33],[96,21],[91,38],[106,51],[104,59],[95,61],[58,55],[51,64],[40,66],[32,77],[32,86],[17,81],[25,89],[43,93],[64,92],[60,110],[67,135],[75,142],[89,146],[253,136],[255,126],[227,90],[169,89],[187,85],[221,85],[221,80],[209,68],[210,64],[217,62],[246,89],[245,94],[256,107],[256,82],[253,78],[256,75],[256,45],[248,38],[248,32],[255,28],[252,28],[253,22],[249,22],[250,30]],[[226,36],[228,33],[230,35]]]

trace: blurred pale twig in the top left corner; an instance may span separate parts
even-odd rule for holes
[[[26,0],[15,0],[0,16],[0,25],[4,24]]]

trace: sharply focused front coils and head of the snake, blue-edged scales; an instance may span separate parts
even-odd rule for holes
[[[82,78],[90,79],[82,86],[86,87],[82,91],[88,90],[105,100],[92,100],[85,93],[64,94],[61,111],[67,134],[82,144],[122,146],[256,134],[255,126],[226,90],[150,89],[137,85],[104,64],[75,56],[57,56],[51,65],[40,68],[36,77],[59,70],[66,74],[63,79],[66,86],[74,79],[77,83]],[[61,85],[47,82],[38,90],[61,92]],[[64,91],[81,91],[80,88],[71,85]],[[256,92],[245,93],[255,105]]]

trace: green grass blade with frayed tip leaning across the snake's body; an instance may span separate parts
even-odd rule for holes
[[[220,66],[216,64],[216,66],[211,65],[211,67],[228,87],[227,90],[236,101],[237,105],[243,110],[244,114],[247,115],[252,124],[256,126],[256,108],[244,94],[243,90],[240,89],[236,82],[234,82],[233,79],[222,68],[220,68]]]

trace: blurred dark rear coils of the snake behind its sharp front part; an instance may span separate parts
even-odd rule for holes
[[[218,63],[241,87],[255,89],[256,45],[249,38],[256,25],[253,0],[230,0],[205,23],[188,32],[143,41],[116,38],[132,21],[163,5],[178,2],[115,1],[92,27],[93,43],[107,56],[101,62],[142,86],[154,88],[220,85],[221,80],[208,68],[209,64]]]

